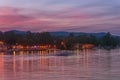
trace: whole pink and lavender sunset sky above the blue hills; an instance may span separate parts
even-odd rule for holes
[[[120,0],[0,0],[0,30],[120,34]]]

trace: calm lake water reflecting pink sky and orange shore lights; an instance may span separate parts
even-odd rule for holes
[[[54,51],[49,53],[65,53]],[[0,80],[119,80],[120,50],[0,53]]]

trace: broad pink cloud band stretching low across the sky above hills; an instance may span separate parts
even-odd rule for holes
[[[118,23],[110,17],[93,17],[80,9],[64,9],[61,11],[40,11],[33,9],[18,9],[12,7],[0,8],[0,30],[31,30],[31,31],[87,31],[98,30],[91,25],[103,23]],[[114,16],[113,16],[114,17]],[[87,27],[85,27],[87,26]]]

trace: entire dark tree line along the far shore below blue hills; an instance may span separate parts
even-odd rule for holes
[[[70,33],[69,36],[55,37],[51,36],[49,32],[32,33],[30,31],[26,34],[16,34],[14,32],[0,32],[0,40],[7,45],[57,45],[59,49],[73,49],[75,44],[93,44],[96,47],[102,48],[116,48],[120,46],[120,37],[112,36],[109,32],[103,37],[96,37],[94,35],[79,35],[75,36]]]

